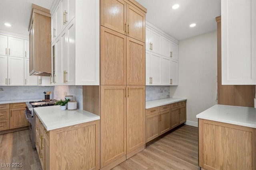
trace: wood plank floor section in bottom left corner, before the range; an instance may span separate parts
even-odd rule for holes
[[[16,165],[22,167],[13,167]],[[32,148],[29,130],[0,135],[0,169],[42,170],[36,149]]]

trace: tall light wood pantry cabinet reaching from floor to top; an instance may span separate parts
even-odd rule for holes
[[[83,87],[83,108],[100,115],[101,169],[145,148],[146,11],[135,0],[100,1],[100,86]]]

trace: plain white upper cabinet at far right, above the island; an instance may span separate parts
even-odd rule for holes
[[[221,1],[222,84],[256,84],[256,1]]]

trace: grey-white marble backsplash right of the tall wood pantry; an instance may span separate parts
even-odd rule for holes
[[[146,101],[170,98],[170,86],[146,86]]]

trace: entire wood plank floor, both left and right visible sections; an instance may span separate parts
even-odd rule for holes
[[[4,164],[22,163],[21,168]],[[42,170],[37,152],[32,149],[29,131],[0,135],[0,169]],[[198,167],[198,128],[184,125],[147,144],[113,170],[200,170]]]

